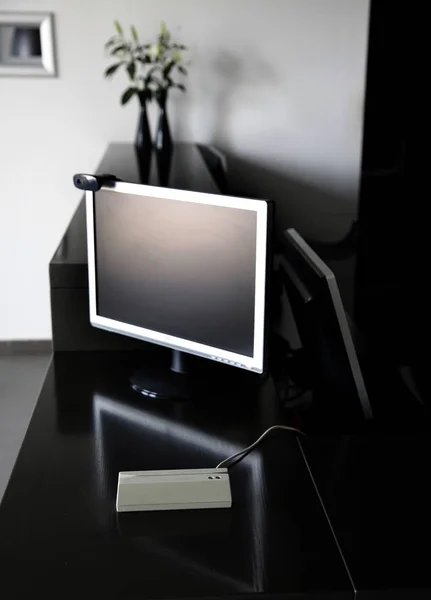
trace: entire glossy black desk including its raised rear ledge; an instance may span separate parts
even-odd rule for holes
[[[111,146],[99,172],[135,180],[132,150]],[[216,191],[195,150],[177,147],[170,181],[188,155],[189,189]],[[50,278],[57,352],[0,506],[6,598],[431,596],[428,432],[281,434],[232,470],[232,510],[117,517],[119,470],[212,466],[287,415],[270,379],[229,395],[208,388],[188,404],[129,389],[137,366],[169,352],[131,353],[133,341],[89,326],[82,204]],[[124,351],[82,351],[112,348]]]

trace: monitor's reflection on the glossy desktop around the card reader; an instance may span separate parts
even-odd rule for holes
[[[98,497],[104,511],[107,504],[115,511],[120,471],[211,467],[243,448],[224,438],[223,432],[214,435],[198,426],[179,423],[175,414],[172,418],[161,416],[157,406],[154,410],[149,406],[138,409],[107,395],[94,395],[93,418]],[[145,552],[168,554],[185,569],[198,568],[217,581],[229,582],[238,592],[262,591],[265,540],[263,535],[256,535],[257,531],[266,530],[260,489],[264,481],[262,470],[262,456],[257,451],[250,454],[237,471],[238,484],[249,486],[249,492],[242,495],[247,498],[247,505],[237,507],[235,518],[237,522],[240,519],[241,530],[249,536],[249,547],[253,548],[250,564],[240,561],[241,572],[235,571],[239,568],[237,565],[225,564],[223,553],[220,553],[220,564],[214,564],[204,549],[211,544],[203,544],[203,540],[235,543],[231,511],[223,511],[222,521],[217,510],[172,511],[168,515],[165,512],[135,513],[132,518],[126,514],[126,519],[120,519],[124,515],[117,515],[119,534],[139,541],[140,545],[143,543]],[[234,490],[235,483],[233,493]]]

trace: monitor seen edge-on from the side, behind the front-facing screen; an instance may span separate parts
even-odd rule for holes
[[[321,412],[335,416],[338,422],[371,419],[367,389],[334,273],[294,229],[283,234],[280,275],[302,344],[301,370],[319,392],[316,401]]]

